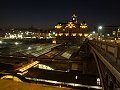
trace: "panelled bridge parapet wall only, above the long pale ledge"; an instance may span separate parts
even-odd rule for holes
[[[89,44],[120,71],[120,45],[118,43],[90,40]]]

